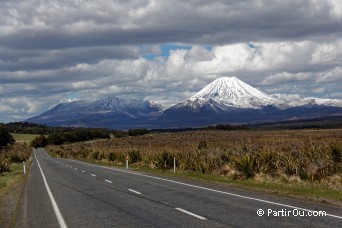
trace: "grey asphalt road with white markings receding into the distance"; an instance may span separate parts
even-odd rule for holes
[[[34,154],[17,227],[342,226],[341,207]]]

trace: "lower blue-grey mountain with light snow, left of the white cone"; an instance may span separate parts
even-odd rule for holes
[[[106,97],[94,102],[61,103],[26,121],[50,126],[114,128],[146,122],[145,119],[161,115],[162,110],[163,106],[153,101]]]

